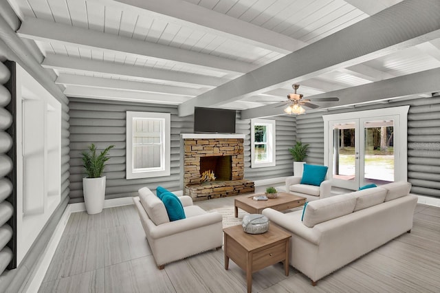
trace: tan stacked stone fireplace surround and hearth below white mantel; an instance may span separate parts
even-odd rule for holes
[[[217,155],[231,156],[231,180],[200,182],[200,158]],[[254,182],[243,179],[244,169],[243,138],[184,139],[185,194],[193,200],[254,192]]]

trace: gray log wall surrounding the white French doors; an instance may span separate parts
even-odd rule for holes
[[[417,98],[355,109],[307,113],[296,119],[297,138],[309,143],[307,162],[324,164],[324,122],[326,113],[347,113],[409,105],[408,182],[417,195],[440,197],[440,97]]]

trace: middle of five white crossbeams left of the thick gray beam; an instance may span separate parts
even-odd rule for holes
[[[85,58],[73,58],[61,55],[48,54],[41,64],[45,68],[59,69],[69,72],[83,72],[89,74],[108,74],[122,78],[137,78],[139,80],[168,81],[175,85],[197,85],[200,87],[217,87],[227,82],[223,78],[188,74],[166,69],[155,69],[112,63],[107,61],[94,61]]]

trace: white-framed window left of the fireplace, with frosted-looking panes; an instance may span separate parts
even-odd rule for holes
[[[126,112],[126,179],[170,175],[170,113]]]

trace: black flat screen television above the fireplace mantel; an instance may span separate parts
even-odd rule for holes
[[[195,107],[195,133],[235,133],[235,110]]]

